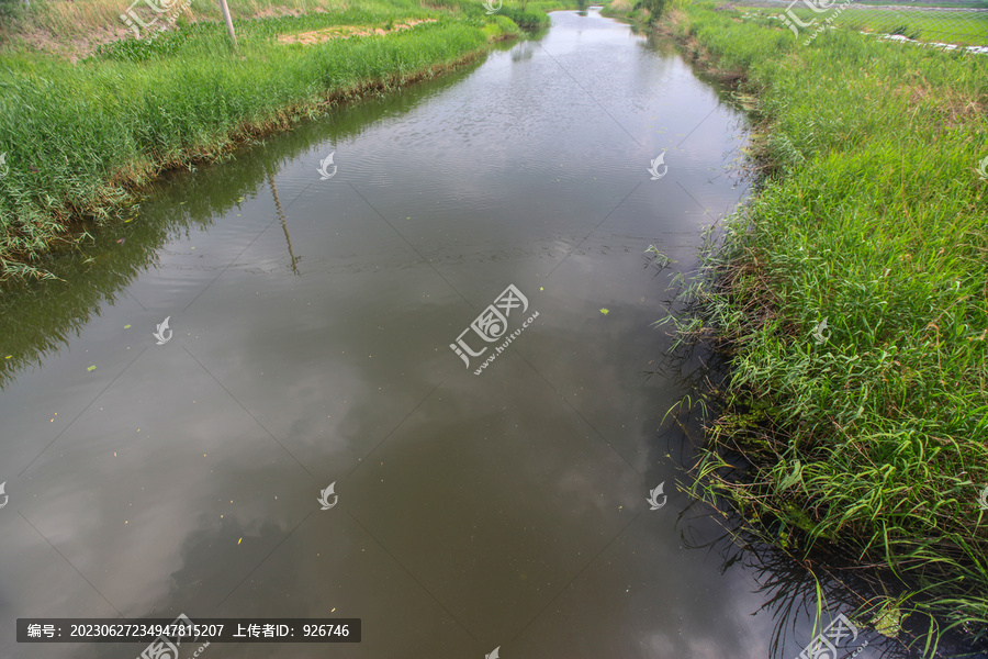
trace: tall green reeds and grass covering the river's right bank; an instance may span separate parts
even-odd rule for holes
[[[981,643],[988,57],[842,30],[804,46],[739,14],[665,23],[742,80],[764,175],[684,293],[701,313],[680,330],[732,367],[698,493],[800,560],[872,566],[863,624],[928,654],[946,629]]]

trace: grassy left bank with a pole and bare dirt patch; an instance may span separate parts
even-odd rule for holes
[[[110,221],[165,168],[223,157],[340,99],[475,58],[491,41],[517,35],[519,24],[548,22],[539,10],[550,7],[506,4],[489,15],[469,0],[324,3],[307,15],[234,21],[236,53],[222,22],[183,15],[154,40],[110,41],[72,62],[50,40],[32,45],[40,33],[58,37],[68,4],[41,0],[3,18],[0,280],[45,277],[41,255],[92,230],[80,220]],[[98,23],[108,8],[119,14],[126,5],[79,0],[79,21]],[[121,23],[116,14],[111,24]],[[333,26],[370,34],[279,41]]]

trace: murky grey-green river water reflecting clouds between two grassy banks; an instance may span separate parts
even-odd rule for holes
[[[4,297],[0,656],[142,649],[18,617],[179,613],[362,619],[216,658],[799,655],[764,563],[696,548],[650,326],[650,247],[695,268],[746,194],[743,118],[585,14],[169,176]]]

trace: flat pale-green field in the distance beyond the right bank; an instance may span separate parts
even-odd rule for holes
[[[782,26],[782,22],[770,16],[777,16],[788,3],[777,2],[759,3],[757,5],[736,4],[742,20],[762,24],[775,24]],[[817,19],[817,23],[804,29],[800,33],[807,36],[816,30],[816,26],[840,10],[840,3],[833,4],[831,12],[816,13],[801,2],[793,5],[791,11],[796,16],[808,23]],[[901,34],[909,38],[923,42],[944,42],[959,45],[988,45],[988,11],[950,11],[936,9],[878,9],[874,5],[860,7],[856,3],[847,7],[837,15],[832,23],[837,27],[860,30],[884,34]]]

